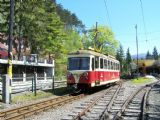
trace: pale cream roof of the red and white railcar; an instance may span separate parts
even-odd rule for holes
[[[112,60],[117,61],[114,56],[104,55],[104,54],[101,54],[101,53],[98,53],[98,52],[95,52],[95,51],[92,51],[92,50],[78,50],[77,52],[69,53],[68,56],[74,56],[74,55],[80,55],[80,54],[94,55],[94,56],[108,58],[108,59],[112,59]]]

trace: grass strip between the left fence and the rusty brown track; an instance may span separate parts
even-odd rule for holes
[[[12,97],[12,103],[20,103],[25,101],[37,100],[41,98],[46,98],[52,96],[51,92],[37,91],[37,95],[35,96],[33,92],[26,92],[24,94],[15,95]]]

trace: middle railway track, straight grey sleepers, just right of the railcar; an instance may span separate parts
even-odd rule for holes
[[[86,103],[82,103],[81,106],[77,106],[75,111],[65,116],[63,120],[86,120],[86,119],[101,119],[107,117],[107,107],[112,106],[113,100],[121,90],[121,83],[119,85],[110,87],[104,94],[96,99],[92,99]]]

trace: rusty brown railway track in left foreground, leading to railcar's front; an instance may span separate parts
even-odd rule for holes
[[[0,119],[2,120],[24,119],[28,116],[38,114],[42,111],[61,106],[71,101],[80,99],[84,96],[85,96],[84,94],[80,94],[77,96],[66,95],[62,97],[52,98],[49,100],[44,100],[44,101],[37,102],[34,104],[28,104],[25,106],[16,107],[16,108],[9,109],[9,110],[4,110],[0,112]]]

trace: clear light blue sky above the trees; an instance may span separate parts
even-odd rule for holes
[[[152,53],[154,46],[160,53],[160,0],[141,1],[144,20],[140,0],[57,0],[57,3],[75,13],[86,29],[96,22],[109,26],[124,51],[129,48],[132,55],[137,53],[137,24],[139,53],[147,53],[148,50]]]

